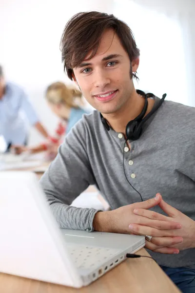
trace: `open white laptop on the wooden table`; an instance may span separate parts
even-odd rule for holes
[[[59,229],[34,173],[0,172],[0,272],[79,288],[144,245],[144,236]]]

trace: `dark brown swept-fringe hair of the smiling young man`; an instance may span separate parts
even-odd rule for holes
[[[131,62],[139,56],[133,33],[125,22],[118,20],[113,14],[80,12],[67,22],[60,42],[64,71],[71,80],[73,68],[79,66],[89,52],[92,53],[87,60],[95,56],[102,33],[108,28],[115,31]],[[131,78],[137,78],[132,68],[130,75]]]

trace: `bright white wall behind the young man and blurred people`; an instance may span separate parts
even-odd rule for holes
[[[176,37],[174,35],[173,38],[170,35],[168,42],[164,43],[161,43],[162,39],[158,35],[154,47],[154,38],[150,32],[153,27],[156,27],[158,16],[151,26],[147,21],[146,13],[142,11],[143,16],[141,16],[132,8],[135,6],[129,5],[130,2],[145,6],[146,10],[149,8],[151,17],[152,10],[160,13],[162,36],[163,23],[168,23],[163,14],[173,19],[172,28],[179,19],[183,28],[184,47],[180,43],[178,49],[175,50],[170,45],[171,42],[174,43]],[[119,4],[116,5],[116,3]],[[64,25],[75,13],[89,10],[114,13],[133,29],[136,41],[141,47],[138,71],[141,89],[154,91],[157,95],[159,91],[160,96],[169,88],[168,99],[195,105],[195,57],[193,56],[195,51],[195,0],[74,0],[72,2],[68,0],[0,0],[0,64],[4,66],[8,80],[25,88],[39,113],[40,120],[50,133],[54,131],[58,119],[45,103],[45,88],[57,80],[70,83],[61,64],[60,37]],[[144,23],[143,17],[146,19]],[[177,39],[179,40],[179,37]],[[172,49],[174,60],[163,59],[163,52],[168,54],[168,46]],[[155,61],[151,61],[152,57],[149,57],[151,52],[153,53],[153,50],[158,52],[160,49],[161,56],[156,54]],[[180,52],[178,60],[175,52],[177,54]],[[154,54],[151,56],[154,57]],[[173,61],[174,66],[178,68],[177,80],[171,67]],[[149,74],[147,68],[152,74]],[[160,83],[157,78],[159,68],[161,74],[163,73]],[[188,73],[187,78],[182,79],[181,75],[186,72]],[[155,79],[156,82],[154,82]],[[171,80],[173,84],[170,83]],[[174,88],[176,88],[176,93]],[[42,141],[42,137],[35,130],[31,130],[30,144],[40,141]]]

